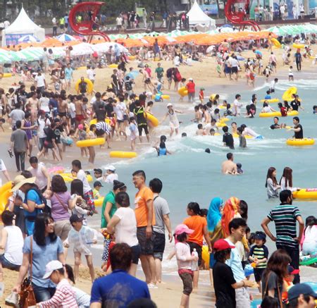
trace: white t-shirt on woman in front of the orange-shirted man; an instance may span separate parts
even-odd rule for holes
[[[135,211],[130,207],[120,207],[114,216],[120,219],[116,226],[116,243],[125,242],[130,247],[139,244],[137,240],[137,219]]]

